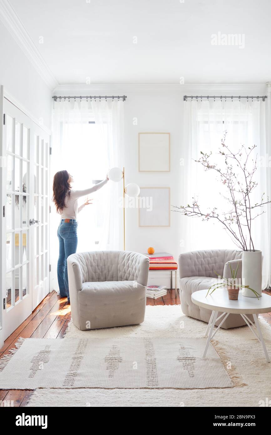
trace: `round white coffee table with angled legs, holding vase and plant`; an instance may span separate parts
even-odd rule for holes
[[[237,301],[230,301],[228,298],[227,289],[217,289],[212,294],[208,294],[206,297],[208,290],[199,290],[195,291],[191,295],[191,300],[194,304],[199,305],[200,307],[207,308],[208,310],[212,310],[212,314],[205,332],[204,337],[208,335],[206,347],[203,353],[203,358],[205,358],[208,350],[209,343],[214,335],[217,333],[219,328],[223,325],[224,321],[228,317],[230,313],[232,314],[240,314],[244,319],[248,327],[251,329],[255,337],[260,341],[263,349],[266,361],[270,362],[270,358],[268,356],[264,339],[261,333],[260,325],[258,322],[257,314],[268,313],[271,312],[271,296],[268,294],[262,294],[261,297],[258,298],[247,298],[239,293],[239,297]],[[218,312],[222,311],[222,314],[217,317]],[[255,325],[248,318],[248,314],[253,315],[253,319]],[[223,317],[224,316],[224,317]],[[222,318],[221,323],[217,326],[214,331],[215,322]],[[214,331],[214,332],[213,332]]]

